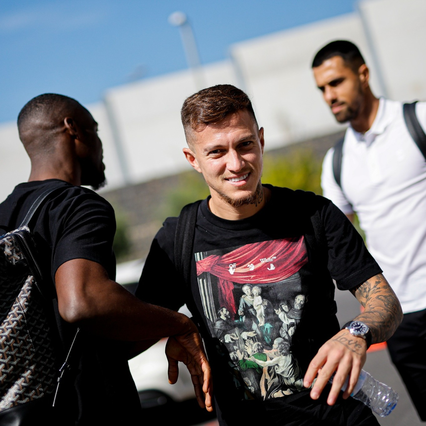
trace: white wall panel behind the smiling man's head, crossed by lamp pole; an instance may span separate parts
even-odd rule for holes
[[[230,61],[202,68],[207,86],[236,84]],[[153,78],[107,92],[118,140],[124,153],[123,166],[131,183],[170,176],[190,167],[182,148],[186,146],[180,110],[196,92],[191,71]]]

